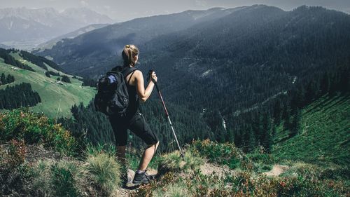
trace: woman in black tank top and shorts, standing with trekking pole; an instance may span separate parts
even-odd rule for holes
[[[154,83],[152,80],[148,81],[148,86],[145,89],[142,72],[138,69],[134,69],[137,60],[139,60],[139,49],[136,46],[125,46],[122,56],[124,60],[123,74],[125,76],[125,83],[127,83],[127,92],[129,93],[129,106],[127,107],[126,116],[123,118],[110,116],[109,121],[111,122],[114,135],[116,136],[117,156],[124,166],[127,129],[130,129],[147,144],[144,154],[141,157],[139,168],[135,172],[132,181],[133,184],[139,185],[148,183],[151,179],[151,176],[146,173],[146,168],[153,158],[159,144],[157,135],[151,130],[144,116],[139,111],[139,100],[141,99],[143,102],[146,102],[152,93]],[[113,69],[118,69],[118,67]],[[155,72],[151,74],[151,77],[157,81]]]

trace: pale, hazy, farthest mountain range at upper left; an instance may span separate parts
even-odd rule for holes
[[[54,8],[2,8],[0,43],[29,49],[81,27],[106,23],[113,20],[87,8],[69,8],[62,12]]]

